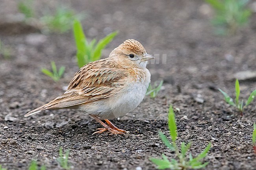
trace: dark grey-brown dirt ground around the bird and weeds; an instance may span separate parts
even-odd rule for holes
[[[192,142],[190,152],[199,154],[209,142],[206,170],[256,170],[252,150],[252,124],[256,101],[243,117],[223,100],[221,88],[234,97],[234,74],[256,70],[256,14],[237,35],[213,35],[213,12],[201,0],[61,1],[85,13],[83,27],[89,39],[111,31],[119,35],[103,51],[109,52],[128,38],[141,42],[147,52],[160,58],[148,65],[152,82],[164,80],[156,99],[145,97],[134,111],[113,120],[130,134],[92,135],[101,125],[75,110],[46,111],[24,118],[28,111],[62,94],[78,70],[72,31],[43,35],[6,17],[17,14],[15,0],[0,0],[0,39],[12,49],[9,59],[0,58],[0,165],[26,170],[32,159],[47,170],[59,170],[59,147],[70,150],[74,170],[155,170],[150,157],[162,153],[172,158],[158,131],[168,134],[167,111],[176,112],[178,144]],[[34,1],[37,13],[58,1]],[[3,16],[3,17],[2,17]],[[253,19],[254,18],[254,19]],[[165,62],[166,56],[166,62]],[[41,73],[50,61],[65,66],[64,77],[55,83]],[[256,80],[240,81],[241,98],[256,89]],[[199,97],[200,100],[196,100]],[[203,100],[203,101],[202,101]]]

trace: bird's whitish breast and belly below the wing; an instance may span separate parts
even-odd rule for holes
[[[148,69],[136,69],[135,71],[138,71],[136,77],[128,78],[115,97],[88,103],[82,106],[81,110],[102,119],[121,117],[134,110],[145,97],[150,83]]]

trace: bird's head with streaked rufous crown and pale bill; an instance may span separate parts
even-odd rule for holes
[[[148,60],[154,58],[147,54],[142,44],[134,39],[124,41],[110,53],[109,57],[121,62],[123,66],[134,68],[146,68]]]

